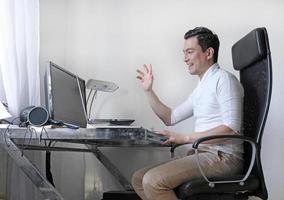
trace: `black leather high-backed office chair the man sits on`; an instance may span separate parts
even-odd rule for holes
[[[261,141],[268,114],[272,68],[267,31],[257,28],[240,39],[232,47],[234,69],[240,71],[244,87],[243,136],[210,136],[198,139],[193,148],[204,141],[216,138],[241,139],[244,141],[244,175],[226,180],[206,180],[206,177],[188,181],[176,189],[181,199],[233,200],[258,196],[268,198],[261,165]],[[227,181],[227,182],[226,182]]]

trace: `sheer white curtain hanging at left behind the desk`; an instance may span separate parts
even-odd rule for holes
[[[0,0],[0,48],[6,101],[10,113],[18,117],[21,109],[40,104],[39,0]],[[8,199],[37,199],[32,183],[11,160],[7,182]]]

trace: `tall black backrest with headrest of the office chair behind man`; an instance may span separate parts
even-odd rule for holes
[[[261,187],[257,192],[267,197],[260,160],[262,135],[272,90],[271,55],[266,29],[256,28],[236,42],[232,47],[232,57],[234,69],[240,71],[240,82],[244,87],[243,133],[258,144],[252,174],[260,179]],[[245,145],[245,168],[250,158],[250,148]]]

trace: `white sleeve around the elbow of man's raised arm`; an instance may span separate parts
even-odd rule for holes
[[[191,116],[193,116],[193,104],[191,96],[189,96],[186,101],[172,110],[171,125],[175,125]]]

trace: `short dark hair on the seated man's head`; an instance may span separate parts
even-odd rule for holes
[[[214,49],[214,62],[218,61],[218,51],[220,42],[218,36],[206,27],[196,27],[185,33],[184,39],[197,36],[198,44],[201,46],[202,51],[206,51],[209,47]]]

